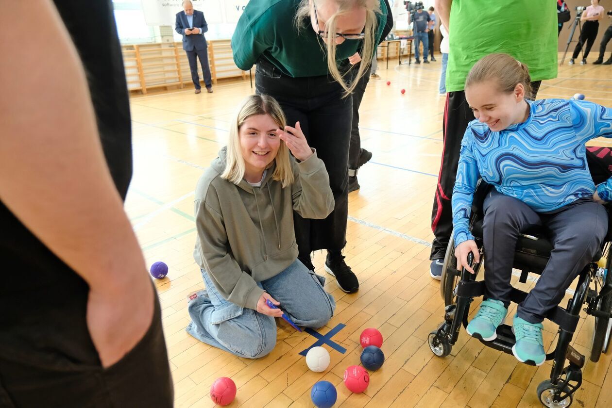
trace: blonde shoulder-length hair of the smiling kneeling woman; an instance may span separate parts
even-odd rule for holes
[[[230,127],[230,138],[227,148],[227,162],[221,178],[239,184],[244,178],[245,165],[240,148],[240,128],[251,116],[268,115],[285,130],[285,114],[278,102],[269,95],[250,95],[246,97],[238,107],[236,117]],[[280,181],[283,188],[293,183],[293,171],[289,163],[289,149],[285,142],[280,141],[280,147],[274,158],[276,168],[272,173],[272,179]]]

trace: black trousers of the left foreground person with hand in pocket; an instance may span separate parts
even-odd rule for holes
[[[0,407],[173,406],[157,294],[144,337],[118,363],[102,368],[86,325],[88,292],[84,283],[62,282],[0,298]]]

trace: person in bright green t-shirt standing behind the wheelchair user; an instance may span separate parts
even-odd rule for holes
[[[474,119],[465,100],[465,80],[480,58],[506,53],[527,65],[535,98],[542,80],[557,76],[557,11],[549,0],[436,0],[441,23],[449,29],[444,147],[431,214],[435,236],[430,275],[440,279],[452,234],[450,200],[455,185],[461,139]],[[451,254],[452,255],[452,254]]]

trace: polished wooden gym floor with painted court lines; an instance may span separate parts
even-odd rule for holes
[[[185,332],[187,295],[203,288],[192,258],[193,190],[226,143],[237,103],[253,92],[248,81],[215,86],[214,94],[195,95],[189,88],[132,98],[135,169],[126,209],[147,263],[164,261],[170,267],[168,278],[155,284],[177,408],[214,406],[209,388],[221,376],[236,382],[231,406],[248,408],[312,407],[310,387],[321,379],[337,386],[338,407],[539,406],[535,388],[550,374],[550,362],[539,368],[520,364],[469,338],[465,330],[446,358],[435,357],[427,345],[428,333],[443,319],[439,283],[428,272],[431,203],[442,152],[441,59],[438,55],[438,62],[410,66],[389,61],[388,70],[379,62],[381,80],[370,80],[365,93],[360,133],[373,158],[359,172],[361,190],[349,195],[345,249],[359,277],[359,292],[341,292],[324,272],[324,253],[313,256],[316,272],[327,278],[326,289],[337,302],[335,316],[319,332],[346,324],[332,338],[346,354],[326,346],[332,363],[324,373],[309,371],[298,355],[316,339],[283,321],[278,321],[274,351],[259,360],[234,357]],[[611,73],[610,67],[569,66],[566,60],[558,78],[542,84],[538,97],[569,98],[582,92],[588,100],[612,106]],[[607,140],[592,144],[612,146]],[[581,319],[573,342],[586,355],[593,320]],[[342,376],[347,366],[359,364],[359,333],[366,327],[383,333],[386,362],[370,373],[365,393],[351,394]],[[545,330],[550,344],[556,327],[548,322]],[[612,352],[597,364],[586,364],[575,406],[612,404],[611,362]]]

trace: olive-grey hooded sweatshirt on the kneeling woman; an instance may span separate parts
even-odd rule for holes
[[[278,275],[297,259],[293,211],[322,219],[334,210],[329,176],[316,152],[300,163],[290,160],[295,181],[286,188],[272,180],[274,164],[261,187],[244,179],[236,185],[220,177],[226,163],[223,147],[195,191],[198,237],[193,258],[224,299],[253,310],[264,292],[257,282]]]

